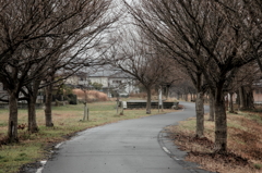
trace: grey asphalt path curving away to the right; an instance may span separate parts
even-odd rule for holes
[[[184,153],[170,148],[163,128],[194,116],[194,103],[184,110],[127,120],[91,128],[63,143],[46,163],[44,173],[189,173]],[[106,116],[106,114],[105,114]],[[163,145],[164,144],[164,145]],[[168,144],[166,147],[165,144]],[[176,156],[176,153],[178,156]],[[179,158],[179,159],[178,159]]]

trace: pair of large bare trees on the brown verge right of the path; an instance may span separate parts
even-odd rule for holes
[[[246,64],[261,66],[262,13],[258,0],[124,1],[154,49],[182,66],[198,92],[196,137],[204,136],[203,96],[215,107],[216,152],[227,149],[225,94]]]

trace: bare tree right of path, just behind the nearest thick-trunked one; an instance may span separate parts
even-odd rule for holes
[[[136,9],[126,4],[136,20],[136,25],[145,32],[152,41],[154,40],[159,48],[168,52],[169,57],[176,60],[190,76],[198,90],[195,101],[196,137],[202,137],[204,135],[203,98],[206,87],[203,83],[201,65],[195,61],[202,54],[198,37],[189,35],[193,34],[193,25],[189,18],[186,18],[187,15],[180,11],[177,3],[179,2],[141,1],[141,5],[136,4]]]

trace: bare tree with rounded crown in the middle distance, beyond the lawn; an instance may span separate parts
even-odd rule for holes
[[[169,55],[163,49],[151,42],[143,33],[135,26],[127,26],[129,29],[119,32],[115,37],[116,42],[111,48],[109,62],[112,66],[120,69],[138,81],[146,91],[146,113],[151,113],[152,90],[158,90],[165,86],[168,90],[171,84],[180,79],[180,74],[170,75],[177,72],[176,63],[165,55]]]

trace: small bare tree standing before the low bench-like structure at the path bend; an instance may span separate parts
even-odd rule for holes
[[[118,39],[119,44],[112,50],[110,61],[144,86],[147,92],[146,113],[150,114],[151,91],[156,84],[165,79],[163,74],[168,69],[164,66],[162,54],[145,38],[131,33],[124,33],[124,35],[121,35],[122,38]]]

